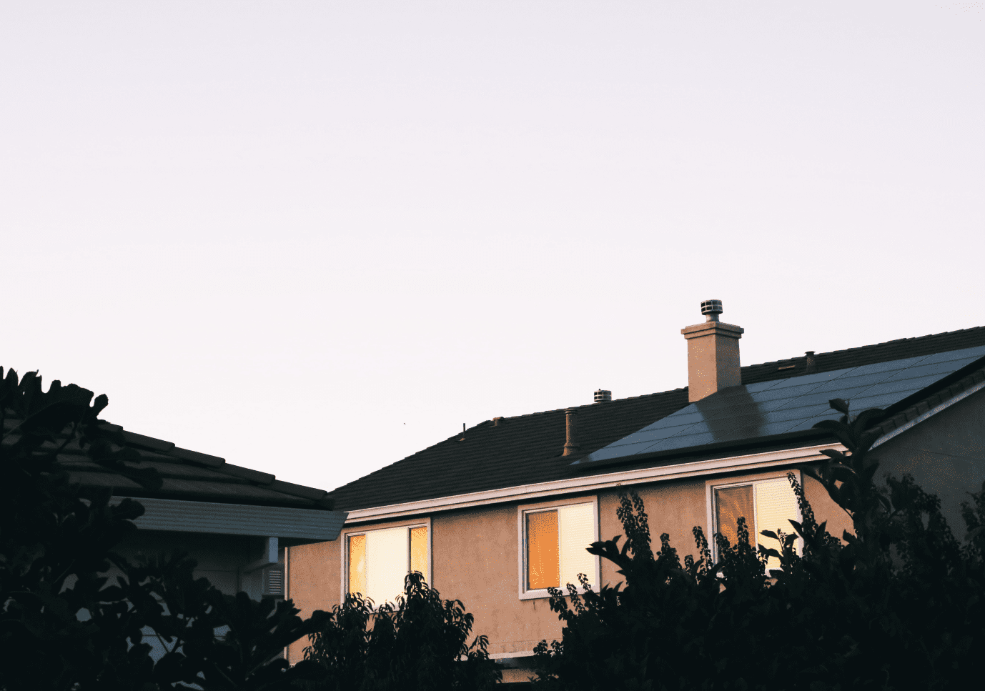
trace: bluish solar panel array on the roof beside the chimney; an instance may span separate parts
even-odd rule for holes
[[[839,416],[831,399],[849,401],[856,413],[888,408],[983,356],[985,346],[977,346],[731,387],[572,465],[808,430]]]

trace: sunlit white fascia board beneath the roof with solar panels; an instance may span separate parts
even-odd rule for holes
[[[583,477],[570,477],[551,482],[537,482],[535,484],[521,484],[515,487],[490,489],[484,492],[454,494],[452,496],[423,499],[405,504],[391,504],[389,506],[357,509],[349,512],[349,518],[346,520],[346,524],[384,521],[404,516],[413,516],[415,514],[453,511],[455,509],[500,504],[509,501],[526,502],[540,497],[589,492],[623,485],[641,484],[643,482],[698,477],[716,472],[753,471],[776,466],[792,466],[826,459],[827,457],[821,454],[822,449],[844,451],[845,447],[838,443],[818,444],[798,449],[768,451],[761,454],[732,456],[707,461],[691,461],[689,463],[674,464],[673,466],[643,468],[635,471],[605,472]]]

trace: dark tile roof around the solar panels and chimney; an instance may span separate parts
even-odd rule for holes
[[[915,339],[899,339],[874,346],[853,347],[833,352],[821,352],[810,365],[801,355],[776,362],[764,362],[742,368],[744,384],[787,379],[809,372],[826,372],[903,357],[957,350],[985,345],[985,327],[975,327],[945,334]],[[809,369],[809,366],[811,367]],[[973,379],[972,375],[972,379]],[[985,377],[985,373],[981,376]],[[967,379],[967,377],[965,377]],[[963,381],[963,380],[962,380]],[[966,382],[965,382],[966,384]],[[943,382],[950,391],[963,385]],[[970,385],[967,385],[970,386]],[[967,388],[964,386],[964,388]],[[963,389],[962,389],[963,390]],[[945,391],[935,391],[925,402],[906,402],[904,410],[895,412],[884,424],[896,425],[902,415],[903,424],[919,412],[914,409],[937,403]],[[379,471],[371,472],[329,493],[343,511],[387,506],[404,502],[433,499],[454,494],[479,492],[535,482],[547,482],[572,476],[574,472],[612,471],[607,468],[572,470],[575,459],[597,451],[656,420],[688,405],[688,389],[675,389],[657,394],[618,399],[610,403],[589,404],[577,410],[577,436],[581,445],[574,456],[560,456],[564,446],[564,409],[546,410],[515,417],[487,420],[428,447],[413,456]],[[799,439],[825,438],[821,432],[809,432]],[[789,440],[777,440],[778,446],[796,446]],[[735,451],[740,448],[730,445]],[[761,444],[757,448],[762,448]],[[719,452],[722,455],[724,452]],[[666,463],[666,460],[654,461]],[[628,468],[626,466],[621,469]]]

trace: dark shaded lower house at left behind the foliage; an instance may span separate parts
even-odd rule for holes
[[[182,551],[198,561],[195,575],[224,593],[284,597],[285,548],[334,540],[342,529],[346,514],[333,510],[322,489],[108,426],[140,453],[134,468],[161,474],[160,489],[149,490],[71,448],[59,455],[59,465],[73,482],[111,487],[114,499],[132,497],[143,504],[137,532],[114,549],[124,557]]]

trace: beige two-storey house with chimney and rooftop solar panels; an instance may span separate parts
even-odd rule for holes
[[[694,526],[734,542],[740,516],[755,534],[789,533],[799,518],[790,471],[832,534],[848,528],[797,470],[840,448],[814,428],[837,416],[834,398],[884,408],[873,456],[938,493],[963,527],[958,504],[985,479],[985,328],[742,367],[743,329],[719,320],[719,301],[701,307],[705,321],[682,331],[688,388],[623,400],[597,391],[589,405],[495,417],[331,492],[349,512],[341,538],[288,550],[289,596],[305,612],[347,592],[378,602],[421,571],[475,615],[503,681],[525,681],[534,647],[560,633],[548,587],[579,573],[595,587],[620,580],[584,547],[622,534],[625,490],[644,500],[654,537],[670,534],[684,554]]]

